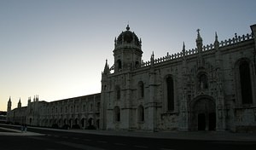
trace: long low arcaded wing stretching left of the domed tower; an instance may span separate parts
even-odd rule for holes
[[[9,99],[7,121],[13,124],[29,124],[55,128],[98,129],[100,126],[101,94],[84,95],[60,101],[33,101],[27,107],[11,110]]]

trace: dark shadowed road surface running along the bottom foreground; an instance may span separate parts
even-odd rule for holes
[[[3,130],[0,130],[3,131]],[[195,141],[128,136],[102,136],[57,130],[28,129],[44,136],[0,136],[1,150],[81,150],[81,149],[207,149],[255,150],[251,141]],[[1,135],[1,134],[0,134]]]

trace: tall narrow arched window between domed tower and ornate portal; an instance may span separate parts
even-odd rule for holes
[[[167,89],[167,110],[174,110],[174,86],[173,79],[171,76],[166,78],[166,89]]]

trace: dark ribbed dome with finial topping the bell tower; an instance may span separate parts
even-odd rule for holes
[[[137,38],[137,35],[134,32],[130,31],[130,26],[126,26],[126,31],[121,32],[119,37],[115,39],[115,49],[124,48],[129,46],[129,48],[141,49],[141,40]]]

